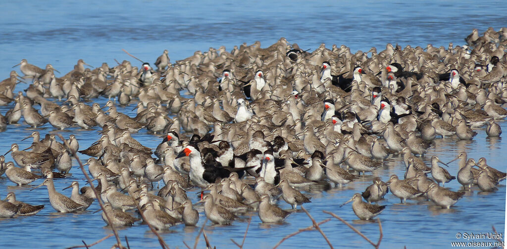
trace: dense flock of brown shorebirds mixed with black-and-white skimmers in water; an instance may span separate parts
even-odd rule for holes
[[[258,41],[231,52],[210,48],[174,64],[164,51],[157,69],[128,61],[89,69],[79,60],[59,78],[50,64],[41,69],[23,59],[23,79],[32,82],[17,96],[16,71],[0,82],[0,104],[15,102],[0,115],[1,128],[23,117],[33,128],[47,122],[59,130],[99,127],[101,136],[79,150],[74,135],[60,143],[54,134],[41,140],[34,131],[25,138],[33,139],[28,149],[12,144],[7,152],[19,167],[0,156],[0,176],[20,186],[46,178],[32,189],[46,186],[58,212],[86,210],[100,198],[109,225],[133,225],[140,219],[129,210],[136,210],[144,222],[167,229],[199,221],[187,197],[190,188],[202,188],[199,202],[213,223],[230,224],[252,211],[262,222],[278,223],[291,214],[276,205],[280,197],[297,209],[310,202],[301,190],[330,183],[341,188],[360,180],[360,173],[382,171],[386,158],[403,157],[403,180],[375,178],[343,205],[352,202],[356,216],[369,220],[386,208],[372,202],[390,190],[402,203],[427,198],[449,209],[472,186],[494,191],[505,179],[486,158],[476,162],[465,151],[455,159],[456,177],[437,156],[431,156],[431,167],[421,157],[440,137],[470,140],[477,134],[472,128],[501,134],[496,120],[507,116],[501,107],[507,100],[507,28],[483,35],[474,29],[465,41],[462,47],[425,49],[388,44],[381,52],[352,54],[346,46],[323,44],[309,53],[280,38],[265,49]],[[110,99],[103,107],[85,102],[100,96]],[[135,117],[117,110],[130,103],[137,103]],[[161,143],[149,148],[131,137],[141,129],[163,134]],[[74,181],[67,197],[53,181],[67,176],[77,151],[90,156],[86,164],[97,192]],[[456,178],[463,189],[444,187]],[[0,200],[0,218],[43,208],[8,193]]]

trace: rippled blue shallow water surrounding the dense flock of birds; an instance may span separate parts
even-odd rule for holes
[[[345,1],[339,4],[260,1],[243,6],[235,2],[199,3],[195,6],[184,1],[108,3],[110,5],[104,5],[102,1],[0,3],[0,9],[4,13],[0,15],[0,77],[7,78],[13,70],[11,67],[21,59],[27,59],[29,63],[40,67],[51,63],[65,73],[73,68],[78,59],[93,66],[99,66],[102,62],[113,66],[114,59],[129,60],[134,65],[140,65],[121,49],[152,63],[167,49],[174,62],[193,55],[197,50],[206,51],[209,47],[224,45],[230,51],[233,46],[252,44],[256,40],[261,41],[262,47],[267,47],[281,36],[291,43],[298,43],[304,50],[314,50],[321,43],[327,47],[345,44],[352,52],[368,51],[371,47],[377,47],[381,51],[387,43],[397,43],[403,47],[425,47],[432,44],[447,48],[449,43],[464,44],[463,38],[472,28],[484,32],[489,26],[498,30],[507,24],[504,15],[507,6],[495,1],[482,1],[480,7],[477,1]],[[19,72],[19,68],[16,70]],[[25,85],[19,84],[16,91],[24,88]],[[106,99],[99,98],[96,101],[103,105]],[[119,108],[119,111],[132,115],[134,104]],[[0,107],[0,112],[5,114],[9,108],[11,106]],[[507,131],[507,122],[502,121],[501,127]],[[33,130],[25,124],[10,125],[0,133],[4,139],[0,144],[0,153],[9,150],[12,143],[18,143],[20,148],[28,147],[30,141],[19,140]],[[37,130],[42,135],[56,132],[49,124]],[[505,139],[489,139],[484,130],[478,132],[470,142],[456,141],[456,138],[437,140],[436,145],[428,150],[425,161],[431,155],[438,155],[442,161],[447,162],[459,151],[466,150],[469,157],[486,157],[489,165],[505,171]],[[95,132],[78,128],[58,133],[64,137],[75,134],[82,149],[99,138]],[[141,130],[133,137],[152,148],[160,142],[156,136],[147,134],[146,130]],[[10,155],[6,158],[12,160]],[[81,159],[84,161],[87,157],[82,156]],[[71,170],[73,176],[55,180],[57,190],[75,180],[81,185],[85,183],[76,164],[74,162]],[[389,158],[386,166],[373,172],[373,176],[387,181],[391,174],[402,175],[403,172],[401,158],[395,157]],[[449,172],[457,174],[457,163],[451,164]],[[330,218],[322,213],[327,210],[352,223],[376,241],[379,234],[376,223],[358,221],[350,204],[339,208],[354,193],[363,191],[373,176],[367,174],[343,189],[306,191],[305,194],[312,196],[312,202],[304,206],[316,221]],[[33,186],[40,183],[42,180],[35,181]],[[446,184],[446,187],[457,190],[460,184],[454,180]],[[90,244],[111,233],[110,229],[103,227],[100,214],[92,214],[98,209],[97,203],[89,208],[90,211],[62,215],[54,213],[44,187],[31,192],[28,189],[29,187],[13,187],[8,179],[0,178],[1,197],[5,198],[7,192],[13,191],[19,200],[46,204],[46,208],[36,216],[0,220],[0,248],[69,247],[82,244],[81,240]],[[70,190],[63,193],[70,195]],[[194,202],[197,201],[197,189],[188,195]],[[429,202],[416,200],[399,204],[399,199],[390,193],[382,204],[388,205],[379,216],[384,232],[382,248],[404,245],[408,248],[447,248],[451,241],[464,241],[455,238],[457,232],[487,233],[492,231],[492,225],[498,231],[504,230],[505,182],[500,183],[498,191],[491,193],[482,193],[477,187],[474,188],[451,210],[441,210]],[[284,202],[279,202],[279,205],[284,209],[290,208]],[[231,226],[209,226],[208,222],[205,231],[211,244],[218,248],[235,247],[229,238],[242,240],[248,216],[242,218]],[[198,225],[204,219],[201,212]],[[279,225],[263,225],[257,214],[252,214],[245,248],[273,247],[287,234],[310,225],[311,221],[301,212],[292,214],[284,224]],[[370,246],[338,220],[331,220],[321,228],[335,247]],[[162,233],[162,236],[171,248],[185,248],[183,241],[193,244],[197,233],[197,228],[178,225],[171,231]],[[24,239],[27,235],[29,239]],[[121,229],[120,236],[128,236],[131,248],[160,247],[156,237],[145,225]],[[114,243],[114,238],[108,238],[93,248],[109,248]],[[204,246],[201,236],[199,247]],[[281,244],[282,248],[303,246],[321,248],[327,246],[327,243],[317,231],[310,231]]]

